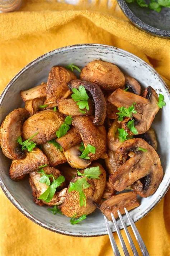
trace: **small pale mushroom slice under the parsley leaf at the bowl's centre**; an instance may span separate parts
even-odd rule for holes
[[[88,167],[91,164],[91,161],[88,159],[80,158],[81,151],[80,151],[80,144],[75,145],[66,151],[63,151],[65,158],[67,159],[67,162],[71,167],[77,168],[77,169],[84,169]]]

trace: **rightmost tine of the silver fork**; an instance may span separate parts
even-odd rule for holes
[[[133,233],[134,233],[134,235],[135,235],[135,237],[136,237],[136,240],[137,240],[137,242],[138,242],[138,244],[139,244],[139,246],[140,246],[140,248],[141,248],[141,251],[142,251],[143,256],[149,256],[148,250],[147,250],[145,244],[143,243],[143,240],[142,240],[142,238],[141,238],[141,235],[140,235],[140,233],[138,232],[136,226],[134,225],[134,222],[133,222],[131,216],[129,215],[129,213],[128,213],[128,211],[126,210],[126,208],[124,208],[124,210],[125,210],[125,212],[126,212],[126,215],[127,215],[127,217],[128,217],[128,220],[129,220],[129,222],[130,222],[130,224],[131,224],[131,227],[132,227]]]

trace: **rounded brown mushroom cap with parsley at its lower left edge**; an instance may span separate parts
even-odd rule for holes
[[[29,117],[23,124],[22,136],[24,140],[32,138],[38,144],[46,143],[48,140],[56,138],[56,131],[64,122],[63,114],[53,110],[43,110]]]

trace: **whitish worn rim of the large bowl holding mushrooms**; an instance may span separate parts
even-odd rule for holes
[[[63,51],[67,51],[70,49],[81,49],[81,48],[85,48],[85,47],[92,47],[92,48],[96,48],[96,47],[101,47],[101,48],[110,48],[111,50],[114,51],[118,51],[119,53],[122,53],[124,55],[126,55],[126,57],[132,57],[133,59],[136,59],[137,62],[140,62],[141,64],[147,66],[147,68],[149,68],[151,70],[151,72],[155,73],[155,75],[159,78],[160,83],[162,84],[162,86],[164,87],[165,91],[167,92],[169,99],[170,99],[170,91],[169,88],[167,87],[167,85],[165,84],[165,82],[162,80],[162,78],[160,77],[160,75],[155,71],[154,68],[152,68],[148,63],[146,63],[144,60],[142,60],[141,58],[137,57],[136,55],[129,53],[126,50],[114,47],[114,46],[110,46],[110,45],[104,45],[104,44],[75,44],[75,45],[69,45],[69,46],[64,46],[61,48],[57,48],[55,50],[49,51],[43,55],[41,55],[40,57],[34,59],[32,62],[30,62],[29,64],[27,64],[23,69],[21,69],[12,79],[11,81],[8,83],[8,85],[5,87],[3,93],[0,95],[0,106],[1,103],[3,102],[3,99],[5,98],[6,93],[8,92],[8,90],[10,89],[10,87],[13,85],[13,82],[15,82],[17,80],[17,78],[22,75],[22,73],[24,73],[25,70],[29,69],[30,67],[34,66],[34,64],[39,63],[41,60],[44,60],[52,55],[55,55],[57,53],[63,52]],[[150,205],[146,212],[138,217],[138,219],[136,219],[134,222],[142,219],[143,217],[145,217],[159,202],[160,200],[165,196],[168,188],[170,185],[170,178],[169,180],[167,180],[166,186],[164,187],[164,189],[162,190],[162,194],[160,197],[157,198],[157,200],[152,203],[152,205]],[[39,226],[46,228],[50,231],[59,233],[59,234],[63,234],[63,235],[70,235],[73,237],[98,237],[98,236],[102,236],[102,235],[106,235],[107,233],[107,229],[103,232],[93,232],[93,233],[72,233],[72,232],[66,232],[66,231],[61,231],[58,230],[56,228],[52,228],[51,226],[47,225],[46,223],[43,223],[42,221],[38,220],[36,217],[34,217],[32,214],[30,214],[22,205],[20,205],[20,203],[14,198],[14,196],[9,192],[8,188],[6,187],[6,185],[4,184],[3,180],[1,179],[1,175],[0,175],[0,186],[3,190],[3,192],[5,193],[6,197],[10,200],[11,203],[13,203],[13,205],[20,211],[22,212],[22,214],[26,217],[28,217],[28,219],[32,220],[34,223],[38,224]],[[127,223],[127,227],[130,225],[130,223]],[[123,228],[122,228],[123,229]],[[112,229],[112,232],[115,232],[114,229]]]

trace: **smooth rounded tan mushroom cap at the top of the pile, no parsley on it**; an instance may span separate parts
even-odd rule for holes
[[[114,64],[102,60],[88,63],[80,73],[80,78],[98,84],[104,90],[123,88],[125,78],[122,71]]]

